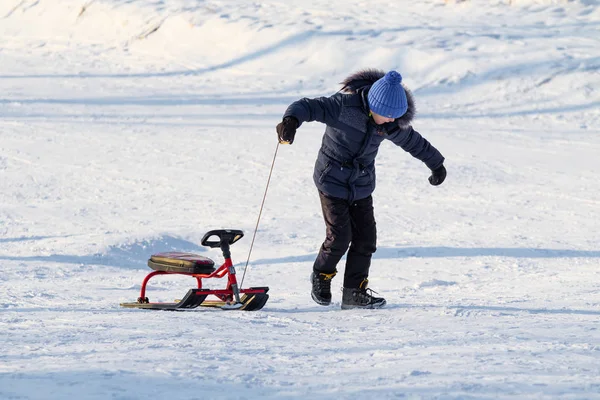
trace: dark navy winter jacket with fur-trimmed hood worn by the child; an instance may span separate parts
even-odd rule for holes
[[[442,154],[410,125],[415,105],[406,88],[408,111],[403,116],[383,125],[375,124],[370,117],[367,94],[384,74],[374,69],[360,71],[346,78],[335,95],[298,100],[284,114],[284,118],[295,117],[300,124],[319,121],[327,125],[313,175],[317,188],[326,195],[353,202],[373,193],[375,156],[384,139],[423,161],[429,169],[444,162]]]

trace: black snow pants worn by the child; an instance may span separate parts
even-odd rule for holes
[[[358,288],[369,276],[371,255],[377,249],[377,229],[371,196],[348,203],[319,192],[327,236],[315,260],[315,272],[330,274],[350,247],[344,287]]]

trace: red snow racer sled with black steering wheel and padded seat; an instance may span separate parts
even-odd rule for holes
[[[203,307],[217,307],[226,310],[255,311],[263,308],[269,295],[268,287],[253,287],[240,289],[238,287],[235,268],[231,261],[229,247],[240,240],[244,233],[240,230],[219,229],[207,232],[202,238],[202,245],[220,247],[225,262],[215,269],[215,262],[208,257],[198,254],[168,252],[152,255],[148,266],[150,272],[142,282],[140,297],[135,303],[121,303],[121,307],[143,308],[148,310],[185,310]],[[218,240],[215,240],[214,238]],[[179,274],[196,278],[198,288],[190,289],[181,300],[173,303],[151,303],[146,297],[146,285],[150,278],[156,275]],[[202,279],[227,277],[225,289],[205,289]],[[212,298],[207,299],[209,296]]]

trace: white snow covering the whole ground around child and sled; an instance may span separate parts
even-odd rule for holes
[[[2,0],[0,398],[600,398],[599,49],[596,0]],[[366,67],[448,169],[380,150],[385,309],[340,310],[343,262],[310,298],[318,123],[277,151],[263,310],[119,307],[152,253],[220,263],[210,229],[241,275],[285,108]]]

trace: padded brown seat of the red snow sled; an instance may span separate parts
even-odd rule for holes
[[[210,258],[179,251],[153,254],[148,266],[155,271],[184,274],[211,274],[215,271],[215,262]]]

